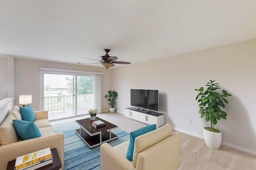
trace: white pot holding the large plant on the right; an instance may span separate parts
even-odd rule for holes
[[[204,141],[206,145],[211,149],[219,149],[221,145],[222,134],[216,132],[211,132],[204,129]]]

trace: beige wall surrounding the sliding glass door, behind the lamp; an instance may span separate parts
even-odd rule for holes
[[[112,69],[92,66],[82,66],[76,64],[54,63],[47,61],[37,61],[29,59],[14,59],[14,78],[15,78],[15,100],[14,104],[19,104],[20,94],[32,94],[32,104],[30,104],[34,111],[39,110],[39,70],[40,67],[44,68],[57,68],[65,70],[79,70],[91,72],[103,72],[103,110],[109,110],[108,101],[104,100],[104,95],[112,88]]]

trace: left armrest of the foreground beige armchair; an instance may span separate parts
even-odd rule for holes
[[[100,170],[135,170],[132,162],[119,154],[108,143],[100,145]]]

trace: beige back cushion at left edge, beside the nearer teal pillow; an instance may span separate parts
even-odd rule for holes
[[[15,119],[14,115],[10,113],[5,121],[0,126],[0,145],[7,145],[10,143],[18,142],[18,135],[12,124]]]

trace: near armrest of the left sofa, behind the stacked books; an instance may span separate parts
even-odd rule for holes
[[[1,169],[6,169],[8,162],[15,160],[16,157],[48,147],[50,147],[50,149],[57,149],[62,169],[64,169],[64,135],[62,133],[54,133],[52,135],[0,146],[0,167]]]

